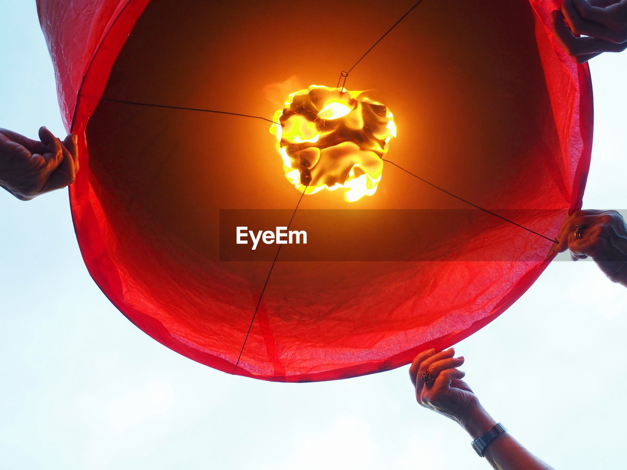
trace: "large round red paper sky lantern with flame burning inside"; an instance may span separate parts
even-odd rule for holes
[[[92,278],[166,347],[263,380],[477,332],[581,207],[591,82],[557,4],[38,0]]]

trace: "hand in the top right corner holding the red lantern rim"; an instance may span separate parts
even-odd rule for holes
[[[627,48],[627,0],[564,0],[553,12],[557,38],[579,63]]]

